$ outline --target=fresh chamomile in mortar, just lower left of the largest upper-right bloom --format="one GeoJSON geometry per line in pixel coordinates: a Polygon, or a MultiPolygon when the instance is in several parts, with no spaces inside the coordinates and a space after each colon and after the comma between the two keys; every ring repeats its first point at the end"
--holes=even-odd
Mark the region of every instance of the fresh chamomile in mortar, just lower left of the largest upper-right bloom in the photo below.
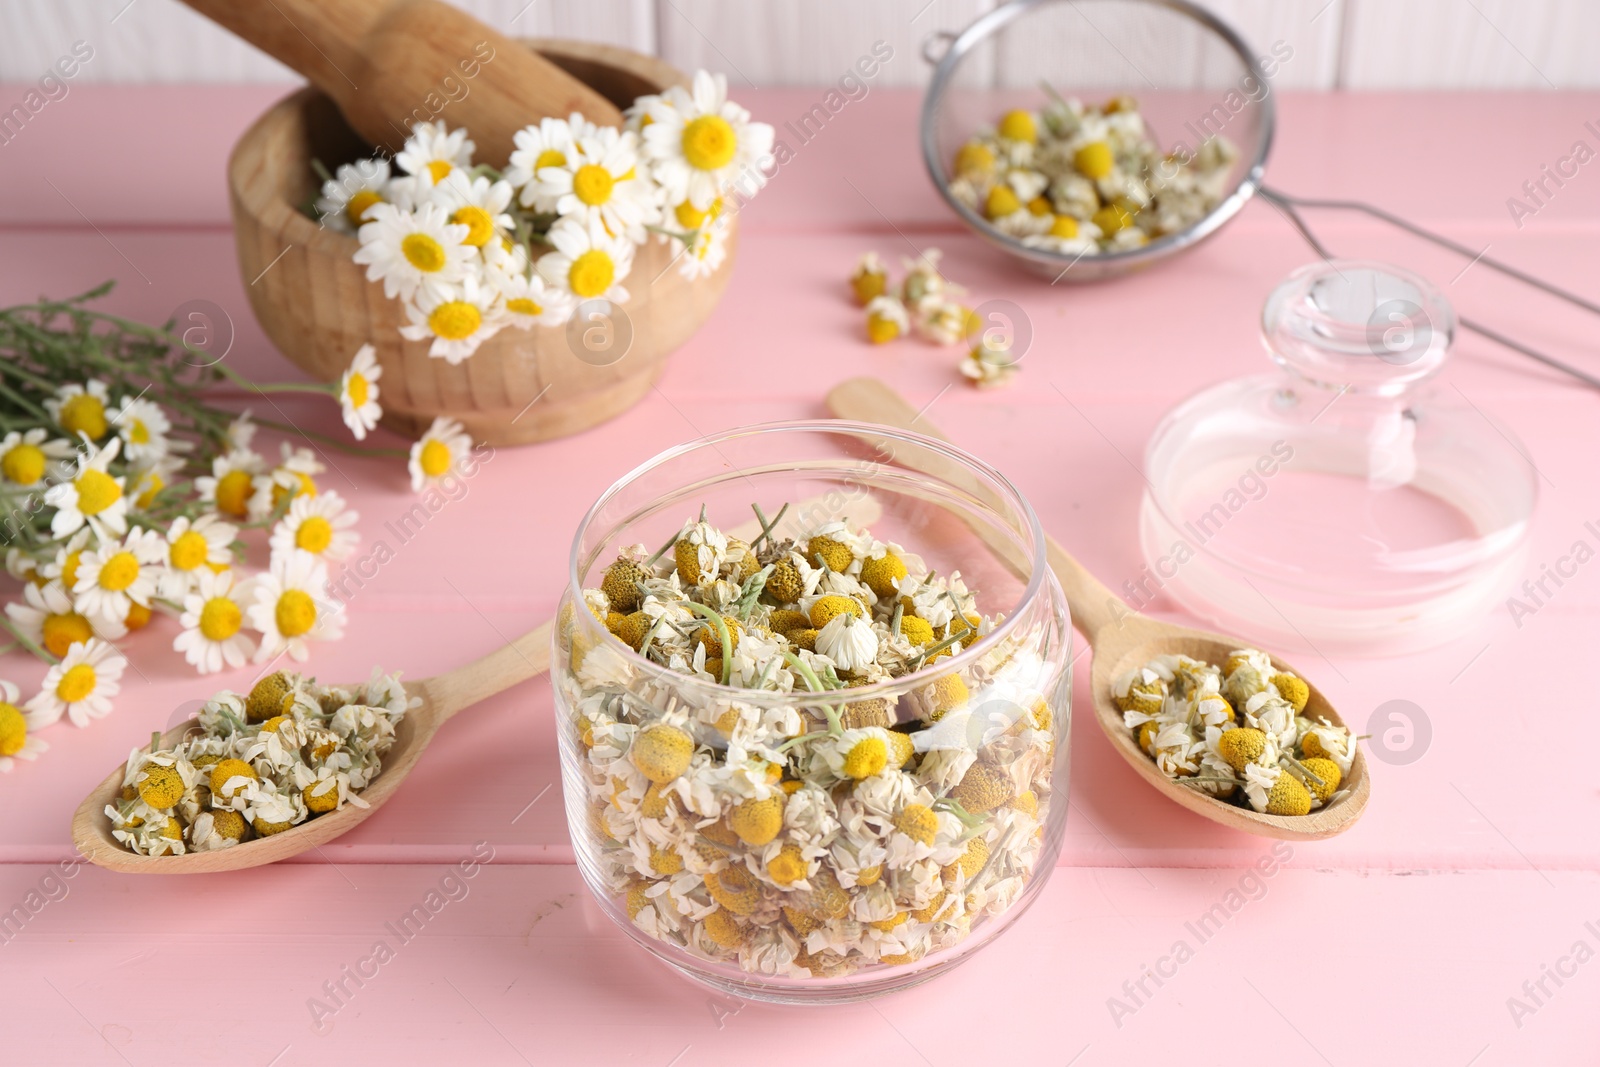
{"type": "Polygon", "coordinates": [[[541,168],[536,195],[562,218],[600,222],[610,234],[640,242],[658,211],[653,187],[637,173],[638,136],[605,126],[581,138],[565,163],[541,168]]]}

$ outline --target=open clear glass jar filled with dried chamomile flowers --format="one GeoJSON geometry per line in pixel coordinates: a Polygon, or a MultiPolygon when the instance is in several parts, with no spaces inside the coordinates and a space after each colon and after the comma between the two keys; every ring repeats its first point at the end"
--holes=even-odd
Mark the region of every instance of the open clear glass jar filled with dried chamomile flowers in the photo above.
{"type": "Polygon", "coordinates": [[[579,870],[600,907],[678,971],[771,1001],[886,993],[970,957],[1050,877],[1067,819],[1072,629],[1032,507],[973,456],[840,421],[674,448],[589,510],[558,617],[550,673],[579,870]],[[757,526],[739,530],[752,504],[766,517],[787,504],[773,539],[803,542],[846,518],[938,574],[958,571],[992,629],[898,678],[824,691],[798,670],[790,691],[717,685],[608,630],[586,590],[621,550],[672,545],[701,509],[754,537],[757,526]],[[662,725],[693,744],[667,782],[672,768],[635,750],[662,725]],[[862,776],[840,757],[866,734],[891,755],[862,776]],[[781,825],[734,811],[762,805],[781,825]],[[805,864],[798,880],[773,865],[786,851],[805,864]]]}

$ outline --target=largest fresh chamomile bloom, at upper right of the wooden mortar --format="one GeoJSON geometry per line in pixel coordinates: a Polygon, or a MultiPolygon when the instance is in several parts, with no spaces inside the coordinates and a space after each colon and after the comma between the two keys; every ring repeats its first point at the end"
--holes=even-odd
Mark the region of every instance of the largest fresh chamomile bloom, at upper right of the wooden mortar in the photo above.
{"type": "Polygon", "coordinates": [[[760,162],[773,150],[773,128],[728,99],[723,75],[698,70],[691,90],[667,90],[646,114],[645,155],[667,203],[690,200],[704,211],[734,182],[766,182],[760,162]]]}

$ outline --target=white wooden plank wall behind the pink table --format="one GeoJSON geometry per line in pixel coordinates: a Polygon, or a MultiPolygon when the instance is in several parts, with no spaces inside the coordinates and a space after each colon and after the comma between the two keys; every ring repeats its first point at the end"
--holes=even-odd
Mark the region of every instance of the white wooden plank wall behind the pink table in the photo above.
{"type": "MultiPolygon", "coordinates": [[[[259,3],[264,0],[240,0],[259,3]]],[[[734,85],[834,82],[883,38],[880,85],[926,77],[917,48],[995,0],[454,0],[514,35],[586,37],[710,67],[734,85]]],[[[1595,88],[1600,0],[1210,0],[1266,51],[1282,88],[1595,88]]],[[[5,0],[0,82],[32,82],[75,40],[82,80],[288,82],[293,74],[176,0],[5,0]]]]}

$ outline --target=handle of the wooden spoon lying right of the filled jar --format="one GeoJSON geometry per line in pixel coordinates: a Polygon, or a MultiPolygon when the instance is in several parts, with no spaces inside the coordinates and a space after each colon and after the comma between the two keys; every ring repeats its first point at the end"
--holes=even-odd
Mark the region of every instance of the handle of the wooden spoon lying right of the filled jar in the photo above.
{"type": "MultiPolygon", "coordinates": [[[[846,382],[840,382],[827,394],[827,406],[842,419],[878,422],[880,426],[910,430],[941,442],[950,440],[926,416],[912,408],[904,397],[877,378],[851,378],[846,382]]],[[[971,491],[979,499],[992,496],[986,486],[936,453],[907,453],[902,448],[896,450],[894,462],[938,475],[952,485],[971,491]]],[[[1072,608],[1072,622],[1083,632],[1090,645],[1094,643],[1094,635],[1102,627],[1136,614],[1112,590],[1102,585],[1098,577],[1083,569],[1083,565],[1072,558],[1050,534],[1045,534],[1045,555],[1050,560],[1050,569],[1056,573],[1056,581],[1061,582],[1061,590],[1067,595],[1067,605],[1072,608]]]]}

